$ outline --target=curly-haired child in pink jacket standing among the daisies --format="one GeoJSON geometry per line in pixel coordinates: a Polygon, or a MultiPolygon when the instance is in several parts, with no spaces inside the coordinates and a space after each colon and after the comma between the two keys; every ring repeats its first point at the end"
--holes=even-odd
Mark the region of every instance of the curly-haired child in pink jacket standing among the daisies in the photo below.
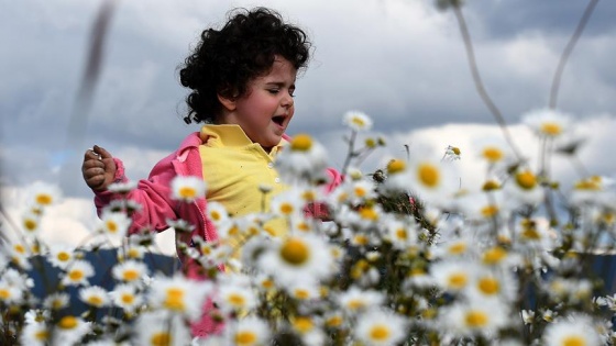
{"type": "MultiPolygon", "coordinates": [[[[216,241],[217,231],[205,213],[207,201],[222,203],[232,215],[244,215],[261,211],[260,185],[274,187],[268,197],[285,189],[273,160],[286,143],[284,133],[295,111],[295,80],[307,65],[309,49],[304,31],[264,8],[238,10],[222,29],[201,33],[179,76],[182,85],[191,89],[184,120],[205,125],[157,163],[148,179],[140,180],[129,194],[142,205],[132,215],[130,233],[144,227],[164,231],[169,227],[167,220],[182,219],[195,225],[193,234],[176,235],[183,243],[189,244],[195,235],[216,241]],[[172,200],[170,181],[176,176],[205,179],[206,199],[172,200]]],[[[86,152],[81,170],[99,212],[114,199],[107,187],[127,180],[122,161],[96,145],[86,152]]],[[[333,187],[340,175],[329,172],[333,187]]],[[[188,276],[199,277],[196,264],[183,265],[188,276]]],[[[208,333],[207,327],[200,328],[194,332],[208,333]]]]}

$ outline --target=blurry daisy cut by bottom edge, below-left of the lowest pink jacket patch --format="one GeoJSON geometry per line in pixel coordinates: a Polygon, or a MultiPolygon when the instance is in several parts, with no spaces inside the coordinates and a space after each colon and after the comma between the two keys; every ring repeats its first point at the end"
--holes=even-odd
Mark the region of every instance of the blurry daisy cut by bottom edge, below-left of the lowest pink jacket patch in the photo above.
{"type": "Polygon", "coordinates": [[[190,331],[180,315],[169,311],[146,312],[136,320],[134,345],[190,345],[190,331]]]}

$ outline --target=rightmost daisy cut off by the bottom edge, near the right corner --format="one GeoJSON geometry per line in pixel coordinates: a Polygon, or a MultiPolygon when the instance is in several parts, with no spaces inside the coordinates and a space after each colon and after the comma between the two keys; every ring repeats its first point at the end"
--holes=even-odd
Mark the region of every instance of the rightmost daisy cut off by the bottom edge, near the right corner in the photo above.
{"type": "Polygon", "coordinates": [[[592,320],[582,314],[573,315],[571,319],[559,319],[549,324],[543,333],[543,342],[546,346],[601,345],[592,320]]]}

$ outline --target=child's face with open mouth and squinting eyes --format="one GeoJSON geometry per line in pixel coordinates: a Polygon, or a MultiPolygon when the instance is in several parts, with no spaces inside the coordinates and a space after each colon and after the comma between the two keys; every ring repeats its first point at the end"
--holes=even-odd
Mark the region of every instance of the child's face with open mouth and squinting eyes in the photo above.
{"type": "Polygon", "coordinates": [[[297,70],[276,56],[272,70],[249,82],[245,96],[227,101],[222,122],[238,124],[252,142],[270,150],[280,142],[295,112],[293,92],[297,70]]]}

